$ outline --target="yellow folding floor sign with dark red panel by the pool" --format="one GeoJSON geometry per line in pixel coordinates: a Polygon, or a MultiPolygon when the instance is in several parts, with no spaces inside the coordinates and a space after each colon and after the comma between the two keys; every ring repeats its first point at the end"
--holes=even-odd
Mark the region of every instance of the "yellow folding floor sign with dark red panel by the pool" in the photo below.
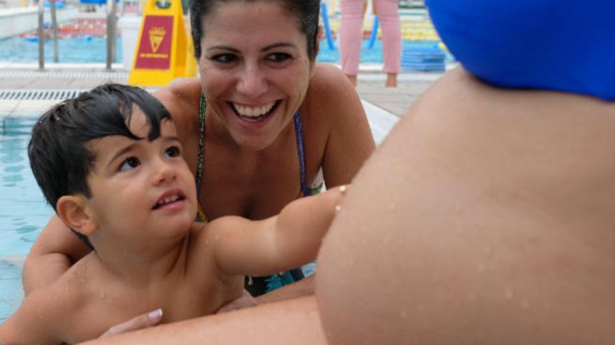
{"type": "Polygon", "coordinates": [[[164,86],[196,75],[192,38],[186,33],[181,0],[147,0],[128,84],[164,86]]]}

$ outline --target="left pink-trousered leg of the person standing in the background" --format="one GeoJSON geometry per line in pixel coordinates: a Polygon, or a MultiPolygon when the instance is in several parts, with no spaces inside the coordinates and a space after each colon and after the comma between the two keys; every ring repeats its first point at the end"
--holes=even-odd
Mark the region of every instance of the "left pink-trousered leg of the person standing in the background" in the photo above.
{"type": "Polygon", "coordinates": [[[340,23],[340,56],[342,72],[356,86],[363,38],[363,0],[342,0],[340,3],[342,20],[340,23]]]}

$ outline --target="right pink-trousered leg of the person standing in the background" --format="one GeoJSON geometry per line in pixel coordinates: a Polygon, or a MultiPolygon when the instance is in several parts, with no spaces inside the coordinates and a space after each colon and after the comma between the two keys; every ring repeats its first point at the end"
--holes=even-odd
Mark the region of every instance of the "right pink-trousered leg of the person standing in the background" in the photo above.
{"type": "Polygon", "coordinates": [[[401,23],[397,0],[374,0],[378,20],[382,26],[382,56],[385,86],[397,86],[397,74],[401,68],[401,23]]]}

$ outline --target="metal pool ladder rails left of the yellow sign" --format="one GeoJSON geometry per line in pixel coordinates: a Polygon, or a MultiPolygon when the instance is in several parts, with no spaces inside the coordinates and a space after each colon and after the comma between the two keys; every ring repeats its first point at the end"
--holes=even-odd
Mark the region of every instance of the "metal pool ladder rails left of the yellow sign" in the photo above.
{"type": "MultiPolygon", "coordinates": [[[[53,27],[53,61],[58,62],[58,41],[57,41],[57,16],[55,10],[55,0],[49,0],[51,10],[51,25],[53,27]]],[[[115,60],[115,44],[117,40],[117,3],[115,0],[107,0],[107,70],[111,70],[111,63],[115,60]],[[110,9],[110,10],[109,10],[110,9]]],[[[38,69],[45,69],[45,1],[38,1],[38,69]]]]}

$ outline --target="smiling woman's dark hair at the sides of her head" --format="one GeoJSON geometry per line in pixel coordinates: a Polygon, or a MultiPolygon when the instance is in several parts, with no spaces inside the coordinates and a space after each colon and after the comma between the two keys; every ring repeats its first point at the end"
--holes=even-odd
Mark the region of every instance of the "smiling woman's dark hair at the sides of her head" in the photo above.
{"type": "MultiPolygon", "coordinates": [[[[281,6],[292,13],[301,32],[307,38],[307,56],[312,61],[316,59],[318,40],[318,16],[320,13],[320,0],[190,0],[190,24],[192,26],[192,42],[194,43],[194,56],[201,59],[201,38],[203,38],[203,21],[209,13],[222,3],[231,1],[277,1],[281,6]]],[[[274,18],[272,18],[273,20],[274,18]]]]}

